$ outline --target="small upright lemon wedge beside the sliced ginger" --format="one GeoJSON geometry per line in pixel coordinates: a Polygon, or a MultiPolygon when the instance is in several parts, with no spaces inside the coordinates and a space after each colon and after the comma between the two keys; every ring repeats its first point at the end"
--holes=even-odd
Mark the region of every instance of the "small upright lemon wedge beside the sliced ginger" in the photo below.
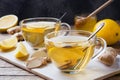
{"type": "Polygon", "coordinates": [[[15,57],[21,60],[23,59],[26,60],[28,56],[29,54],[27,52],[26,47],[24,46],[22,42],[20,42],[17,46],[15,57]]]}

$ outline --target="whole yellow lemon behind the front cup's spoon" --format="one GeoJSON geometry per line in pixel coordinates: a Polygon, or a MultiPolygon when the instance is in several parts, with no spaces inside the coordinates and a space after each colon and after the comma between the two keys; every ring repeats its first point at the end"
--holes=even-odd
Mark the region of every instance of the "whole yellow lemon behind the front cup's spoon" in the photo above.
{"type": "Polygon", "coordinates": [[[107,45],[115,44],[120,40],[120,26],[112,19],[100,20],[94,26],[93,31],[95,31],[101,23],[105,23],[103,28],[97,33],[98,37],[102,37],[106,40],[107,45]]]}

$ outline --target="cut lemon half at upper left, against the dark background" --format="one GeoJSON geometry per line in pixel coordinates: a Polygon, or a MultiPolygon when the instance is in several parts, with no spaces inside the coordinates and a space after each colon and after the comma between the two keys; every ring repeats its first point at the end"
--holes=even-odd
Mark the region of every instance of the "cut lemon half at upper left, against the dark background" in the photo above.
{"type": "Polygon", "coordinates": [[[0,32],[5,32],[8,28],[16,26],[18,17],[16,15],[5,15],[0,18],[0,32]]]}

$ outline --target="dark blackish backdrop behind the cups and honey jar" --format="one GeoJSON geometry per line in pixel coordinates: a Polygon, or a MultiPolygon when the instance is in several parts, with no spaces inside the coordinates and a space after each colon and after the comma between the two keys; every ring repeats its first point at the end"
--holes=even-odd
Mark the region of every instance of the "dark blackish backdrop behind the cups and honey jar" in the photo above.
{"type": "MultiPolygon", "coordinates": [[[[63,22],[74,24],[76,15],[91,13],[108,0],[0,0],[0,17],[15,14],[19,21],[32,17],[60,18],[65,12],[63,22]]],[[[97,14],[98,20],[120,19],[120,0],[114,0],[109,6],[97,14]]]]}

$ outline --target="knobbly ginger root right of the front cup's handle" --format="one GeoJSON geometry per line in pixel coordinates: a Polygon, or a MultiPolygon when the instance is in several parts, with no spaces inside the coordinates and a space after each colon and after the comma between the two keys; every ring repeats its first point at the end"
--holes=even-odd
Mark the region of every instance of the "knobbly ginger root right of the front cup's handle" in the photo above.
{"type": "Polygon", "coordinates": [[[106,51],[103,54],[101,54],[98,57],[98,59],[103,64],[105,64],[107,66],[111,66],[114,64],[114,62],[116,60],[116,56],[117,56],[116,50],[112,47],[107,47],[106,51]]]}

